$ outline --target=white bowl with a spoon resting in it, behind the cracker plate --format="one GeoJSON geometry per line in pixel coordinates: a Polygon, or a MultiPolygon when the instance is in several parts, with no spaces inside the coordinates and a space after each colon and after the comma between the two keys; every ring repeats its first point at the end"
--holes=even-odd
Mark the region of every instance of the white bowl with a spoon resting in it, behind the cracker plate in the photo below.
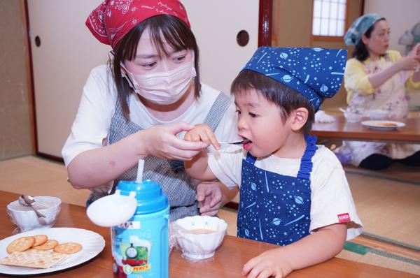
{"type": "Polygon", "coordinates": [[[20,228],[20,232],[27,232],[36,228],[51,228],[59,214],[62,201],[53,196],[35,196],[34,207],[45,215],[38,218],[31,207],[22,206],[18,200],[7,205],[7,213],[13,224],[20,228]]]}

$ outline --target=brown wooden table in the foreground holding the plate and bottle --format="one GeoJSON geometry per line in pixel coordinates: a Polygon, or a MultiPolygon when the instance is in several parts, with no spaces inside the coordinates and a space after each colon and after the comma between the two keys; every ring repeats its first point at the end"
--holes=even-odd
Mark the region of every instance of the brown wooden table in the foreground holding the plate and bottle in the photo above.
{"type": "MultiPolygon", "coordinates": [[[[18,198],[18,194],[0,191],[0,239],[9,237],[13,231],[13,224],[6,213],[6,205],[18,198]]],[[[61,212],[57,218],[55,227],[74,227],[94,231],[105,239],[105,249],[92,260],[77,265],[67,270],[61,270],[43,276],[48,277],[113,277],[111,240],[109,228],[95,226],[87,219],[85,207],[78,205],[62,204],[61,212]]],[[[190,263],[182,258],[179,251],[172,251],[169,258],[170,277],[188,278],[219,278],[219,277],[241,277],[241,268],[246,261],[257,256],[262,251],[275,248],[275,245],[242,238],[225,236],[221,247],[217,249],[216,255],[198,263],[190,263]]],[[[400,272],[387,268],[380,268],[365,263],[357,263],[342,258],[332,258],[325,263],[311,266],[292,272],[288,277],[419,277],[406,272],[400,272]]]]}

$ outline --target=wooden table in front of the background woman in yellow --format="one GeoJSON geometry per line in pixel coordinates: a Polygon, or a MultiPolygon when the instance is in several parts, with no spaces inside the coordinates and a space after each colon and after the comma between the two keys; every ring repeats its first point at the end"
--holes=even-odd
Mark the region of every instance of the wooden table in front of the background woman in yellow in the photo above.
{"type": "MultiPolygon", "coordinates": [[[[328,113],[330,114],[330,113],[328,113]]],[[[420,143],[420,118],[398,120],[404,122],[405,126],[397,130],[378,130],[370,129],[360,123],[347,122],[342,113],[331,115],[335,118],[332,123],[314,123],[311,134],[322,139],[345,139],[359,141],[381,141],[381,142],[401,142],[401,143],[420,143]]],[[[363,119],[363,120],[368,120],[363,119]]]]}

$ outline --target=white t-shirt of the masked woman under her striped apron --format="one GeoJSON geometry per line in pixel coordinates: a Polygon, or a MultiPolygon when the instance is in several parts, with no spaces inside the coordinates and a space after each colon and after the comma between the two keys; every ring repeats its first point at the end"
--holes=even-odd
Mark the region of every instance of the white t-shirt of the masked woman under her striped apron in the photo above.
{"type": "MultiPolygon", "coordinates": [[[[153,117],[139,98],[130,98],[130,119],[144,129],[160,124],[185,121],[190,124],[202,123],[220,92],[202,84],[200,98],[180,117],[171,121],[161,121],[153,117]]],[[[93,68],[83,87],[83,94],[71,133],[62,149],[66,166],[81,152],[102,147],[107,138],[111,119],[116,112],[117,94],[109,71],[109,66],[93,68]]],[[[237,140],[237,116],[235,105],[231,103],[215,130],[216,138],[221,141],[237,140]]],[[[178,135],[183,138],[183,133],[178,135]]],[[[209,148],[210,152],[214,149],[209,148]]],[[[109,187],[109,184],[106,185],[109,187]]]]}

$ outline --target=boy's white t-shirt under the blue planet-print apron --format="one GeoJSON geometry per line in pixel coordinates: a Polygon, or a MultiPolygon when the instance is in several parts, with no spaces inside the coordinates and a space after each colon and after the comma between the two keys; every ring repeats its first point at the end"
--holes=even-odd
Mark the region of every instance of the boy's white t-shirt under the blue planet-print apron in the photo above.
{"type": "MultiPolygon", "coordinates": [[[[362,233],[363,224],[358,218],[344,170],[330,149],[317,145],[312,157],[311,224],[309,231],[339,223],[339,217],[348,214],[347,240],[362,233]],[[342,214],[341,216],[339,216],[342,214]]],[[[246,150],[239,146],[227,147],[209,154],[209,167],[214,175],[228,187],[241,184],[242,159],[246,150]]],[[[296,177],[300,159],[283,159],[270,155],[255,161],[255,166],[281,175],[296,177]]]]}

